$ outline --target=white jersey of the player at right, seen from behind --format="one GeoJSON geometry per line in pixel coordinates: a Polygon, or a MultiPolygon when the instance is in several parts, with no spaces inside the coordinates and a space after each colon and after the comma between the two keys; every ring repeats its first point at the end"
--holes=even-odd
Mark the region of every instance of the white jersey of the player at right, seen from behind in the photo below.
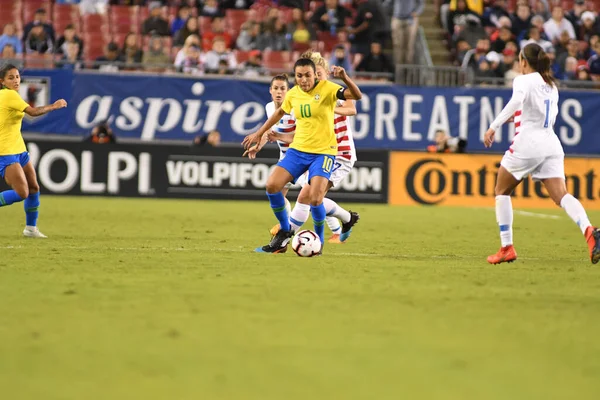
{"type": "Polygon", "coordinates": [[[558,115],[558,89],[548,85],[535,72],[521,75],[513,82],[513,95],[490,125],[498,131],[514,116],[515,138],[509,151],[520,158],[549,157],[564,154],[554,132],[558,115]]]}

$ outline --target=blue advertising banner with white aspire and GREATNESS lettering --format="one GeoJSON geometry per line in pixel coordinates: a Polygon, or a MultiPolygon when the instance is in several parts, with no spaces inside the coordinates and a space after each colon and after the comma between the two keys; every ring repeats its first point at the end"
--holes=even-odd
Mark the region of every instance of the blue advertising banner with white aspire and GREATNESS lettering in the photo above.
{"type": "MultiPolygon", "coordinates": [[[[496,88],[365,84],[361,89],[353,120],[357,147],[394,150],[424,150],[435,132],[444,130],[467,139],[467,151],[482,151],[485,131],[511,95],[496,88]]],[[[54,92],[51,97],[57,98],[54,92]]],[[[76,72],[70,114],[49,115],[26,130],[87,135],[108,119],[117,137],[191,141],[218,129],[224,142],[240,142],[266,120],[269,101],[266,82],[76,72]]],[[[567,153],[600,153],[599,110],[597,92],[561,92],[554,129],[567,153]]],[[[513,136],[514,124],[506,124],[492,150],[505,151],[513,136]]]]}

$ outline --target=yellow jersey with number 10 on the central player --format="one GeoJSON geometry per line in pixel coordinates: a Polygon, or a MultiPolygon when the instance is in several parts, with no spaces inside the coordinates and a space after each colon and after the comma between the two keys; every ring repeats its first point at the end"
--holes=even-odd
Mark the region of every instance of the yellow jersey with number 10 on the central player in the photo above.
{"type": "Polygon", "coordinates": [[[286,93],[281,108],[286,114],[293,110],[296,117],[291,149],[311,154],[337,154],[333,109],[340,89],[342,87],[333,82],[320,81],[310,92],[296,85],[286,93]]]}

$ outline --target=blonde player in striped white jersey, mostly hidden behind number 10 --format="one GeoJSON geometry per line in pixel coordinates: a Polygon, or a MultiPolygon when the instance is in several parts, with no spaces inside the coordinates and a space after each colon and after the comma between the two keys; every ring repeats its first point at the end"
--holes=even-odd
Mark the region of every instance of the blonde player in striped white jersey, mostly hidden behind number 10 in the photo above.
{"type": "MultiPolygon", "coordinates": [[[[301,58],[310,58],[317,67],[317,78],[319,80],[326,80],[329,77],[329,65],[327,61],[321,56],[320,53],[308,51],[301,55],[301,58]]],[[[352,100],[338,100],[338,104],[335,108],[334,116],[334,129],[337,136],[338,142],[338,153],[335,158],[333,171],[329,178],[329,184],[327,190],[332,187],[336,187],[340,182],[350,173],[354,163],[356,162],[356,149],[354,147],[354,140],[352,138],[352,129],[348,125],[348,118],[356,115],[356,106],[352,100]]],[[[291,140],[293,137],[282,137],[275,132],[269,134],[269,140],[291,140]]],[[[298,195],[296,204],[290,214],[290,224],[292,230],[298,231],[298,229],[306,222],[310,213],[310,200],[309,200],[309,187],[308,182],[300,182],[302,184],[302,190],[298,195]]],[[[345,242],[350,233],[352,227],[358,222],[360,216],[356,212],[346,211],[340,207],[335,201],[325,198],[323,199],[323,205],[327,213],[327,225],[333,233],[333,236],[329,239],[330,243],[343,243],[345,242]],[[342,225],[340,226],[340,221],[342,225]]],[[[276,233],[277,226],[271,230],[271,234],[276,233]]]]}

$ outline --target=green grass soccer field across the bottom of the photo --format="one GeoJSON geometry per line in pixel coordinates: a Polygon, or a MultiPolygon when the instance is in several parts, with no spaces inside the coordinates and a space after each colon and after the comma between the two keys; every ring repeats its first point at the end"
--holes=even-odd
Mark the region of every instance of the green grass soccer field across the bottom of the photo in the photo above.
{"type": "MultiPolygon", "coordinates": [[[[355,205],[323,257],[254,254],[267,202],[42,198],[0,209],[3,399],[597,399],[600,265],[577,226],[355,205]]],[[[600,221],[600,213],[590,213],[600,221]]]]}

